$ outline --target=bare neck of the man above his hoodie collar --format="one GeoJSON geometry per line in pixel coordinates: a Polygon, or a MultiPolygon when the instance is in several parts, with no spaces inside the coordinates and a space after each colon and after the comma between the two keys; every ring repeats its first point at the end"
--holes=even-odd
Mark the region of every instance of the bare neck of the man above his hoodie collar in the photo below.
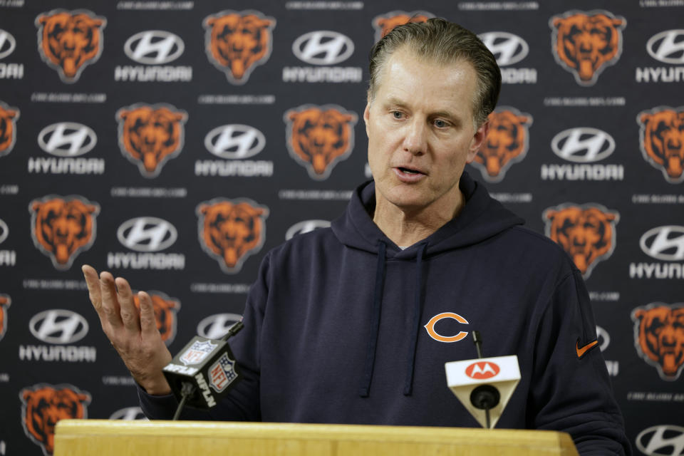
{"type": "Polygon", "coordinates": [[[400,208],[377,193],[375,201],[373,222],[385,236],[401,247],[408,247],[429,237],[456,217],[465,204],[460,190],[454,201],[435,202],[418,210],[400,208]]]}

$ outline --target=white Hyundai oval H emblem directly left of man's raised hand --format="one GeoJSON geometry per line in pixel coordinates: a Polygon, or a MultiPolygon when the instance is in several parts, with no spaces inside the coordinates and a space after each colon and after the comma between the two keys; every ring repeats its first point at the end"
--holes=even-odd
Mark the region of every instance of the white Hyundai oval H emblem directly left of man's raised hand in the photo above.
{"type": "Polygon", "coordinates": [[[28,321],[31,334],[46,343],[74,343],[88,333],[88,321],[76,312],[51,309],[28,321]]]}

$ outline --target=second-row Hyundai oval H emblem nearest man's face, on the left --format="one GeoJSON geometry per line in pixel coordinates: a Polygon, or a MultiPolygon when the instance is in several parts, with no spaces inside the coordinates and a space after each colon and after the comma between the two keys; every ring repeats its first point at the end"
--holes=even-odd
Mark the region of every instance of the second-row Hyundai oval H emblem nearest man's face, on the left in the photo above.
{"type": "Polygon", "coordinates": [[[222,125],[207,133],[204,147],[217,157],[241,159],[261,152],[266,147],[266,137],[249,125],[222,125]]]}

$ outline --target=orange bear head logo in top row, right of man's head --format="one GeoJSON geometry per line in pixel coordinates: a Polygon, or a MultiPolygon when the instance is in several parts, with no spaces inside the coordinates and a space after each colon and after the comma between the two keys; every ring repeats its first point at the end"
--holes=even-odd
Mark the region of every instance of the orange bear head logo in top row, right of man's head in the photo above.
{"type": "Polygon", "coordinates": [[[598,75],[622,53],[623,17],[608,11],[568,11],[549,20],[551,50],[581,86],[593,86],[598,75]]]}

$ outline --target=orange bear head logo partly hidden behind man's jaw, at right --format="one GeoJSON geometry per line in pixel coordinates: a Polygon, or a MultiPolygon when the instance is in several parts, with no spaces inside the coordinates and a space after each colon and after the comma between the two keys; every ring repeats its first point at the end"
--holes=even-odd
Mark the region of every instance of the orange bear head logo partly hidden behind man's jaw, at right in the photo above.
{"type": "Polygon", "coordinates": [[[532,115],[502,106],[489,114],[489,134],[472,165],[488,182],[501,182],[511,165],[527,155],[532,115]]]}

